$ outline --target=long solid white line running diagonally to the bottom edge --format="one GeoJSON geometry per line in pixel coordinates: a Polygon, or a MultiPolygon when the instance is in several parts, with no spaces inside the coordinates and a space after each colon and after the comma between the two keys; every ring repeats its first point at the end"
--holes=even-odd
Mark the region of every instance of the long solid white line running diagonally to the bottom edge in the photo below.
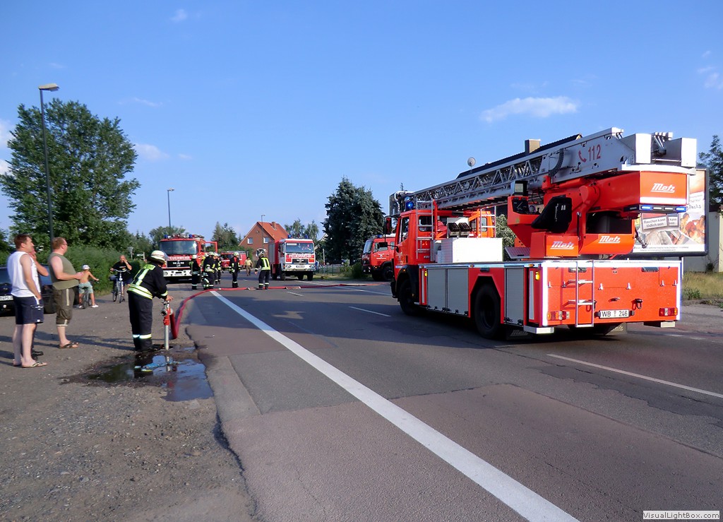
{"type": "Polygon", "coordinates": [[[330,380],[341,386],[348,393],[358,398],[359,401],[366,404],[377,414],[387,419],[404,433],[412,437],[414,440],[422,444],[432,453],[435,453],[442,460],[446,461],[461,473],[469,477],[469,479],[479,484],[487,492],[491,493],[517,513],[530,521],[576,521],[565,511],[556,505],[537,495],[528,487],[520,484],[512,477],[505,475],[499,469],[495,468],[487,461],[482,460],[471,451],[466,450],[453,440],[448,439],[445,435],[437,432],[436,429],[430,427],[415,416],[408,414],[399,406],[387,401],[375,391],[370,390],[341,370],[333,367],[328,362],[320,359],[320,357],[312,354],[306,348],[296,341],[292,341],[285,335],[277,332],[262,320],[257,319],[249,314],[246,310],[236,306],[225,297],[212,291],[219,300],[233,309],[237,314],[251,322],[256,328],[281,343],[289,351],[291,351],[300,359],[307,362],[330,380]]]}

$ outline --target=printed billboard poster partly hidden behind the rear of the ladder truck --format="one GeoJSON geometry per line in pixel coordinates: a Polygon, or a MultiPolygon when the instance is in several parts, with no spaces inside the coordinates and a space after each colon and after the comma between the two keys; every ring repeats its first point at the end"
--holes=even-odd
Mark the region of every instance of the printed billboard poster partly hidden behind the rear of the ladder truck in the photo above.
{"type": "Polygon", "coordinates": [[[636,220],[633,252],[640,254],[699,255],[706,252],[706,171],[688,178],[688,210],[678,214],[643,213],[636,220]],[[641,241],[642,240],[642,241],[641,241]],[[643,247],[643,244],[646,246],[643,247]]]}

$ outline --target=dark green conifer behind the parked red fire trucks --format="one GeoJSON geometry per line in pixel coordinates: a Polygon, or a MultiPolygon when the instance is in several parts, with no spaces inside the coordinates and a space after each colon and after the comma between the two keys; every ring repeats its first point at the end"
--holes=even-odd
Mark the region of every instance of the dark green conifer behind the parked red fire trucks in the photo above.
{"type": "Polygon", "coordinates": [[[359,260],[364,241],[381,234],[384,214],[372,192],[344,177],[329,196],[324,220],[326,255],[332,260],[359,260]]]}

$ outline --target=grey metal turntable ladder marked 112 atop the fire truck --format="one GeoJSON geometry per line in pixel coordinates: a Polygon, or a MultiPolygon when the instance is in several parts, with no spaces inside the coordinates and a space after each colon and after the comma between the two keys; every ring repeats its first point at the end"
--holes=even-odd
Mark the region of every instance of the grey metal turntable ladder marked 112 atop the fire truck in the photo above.
{"type": "Polygon", "coordinates": [[[515,184],[526,184],[532,191],[540,189],[546,176],[559,184],[643,170],[693,174],[696,167],[696,140],[674,140],[670,132],[624,137],[622,129],[612,127],[543,147],[537,146],[536,140],[529,143],[529,152],[464,171],[447,183],[416,192],[395,192],[389,198],[389,215],[398,216],[411,207],[429,207],[433,201],[439,208],[458,210],[493,205],[517,193],[515,184]]]}

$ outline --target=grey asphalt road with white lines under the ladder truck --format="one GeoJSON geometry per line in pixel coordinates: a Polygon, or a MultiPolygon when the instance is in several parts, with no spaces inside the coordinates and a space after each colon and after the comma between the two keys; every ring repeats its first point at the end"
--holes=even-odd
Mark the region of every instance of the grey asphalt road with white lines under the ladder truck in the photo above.
{"type": "MultiPolygon", "coordinates": [[[[272,282],[191,301],[264,521],[641,521],[721,510],[717,307],[675,329],[487,341],[388,286],[272,282]]],[[[241,285],[253,286],[251,278],[241,285]]]]}

